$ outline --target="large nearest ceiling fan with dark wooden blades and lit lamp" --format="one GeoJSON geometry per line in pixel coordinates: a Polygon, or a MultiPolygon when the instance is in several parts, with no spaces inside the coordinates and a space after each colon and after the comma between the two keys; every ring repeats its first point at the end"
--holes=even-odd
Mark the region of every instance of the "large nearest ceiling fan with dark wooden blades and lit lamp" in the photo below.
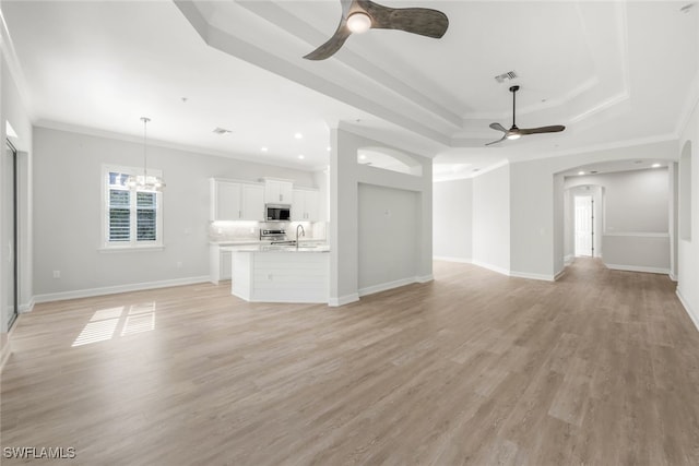
{"type": "Polygon", "coordinates": [[[445,13],[427,8],[389,8],[370,0],[340,0],[342,17],[335,34],[304,58],[324,60],[332,57],[352,33],[368,29],[400,29],[420,36],[440,38],[449,27],[445,13]]]}

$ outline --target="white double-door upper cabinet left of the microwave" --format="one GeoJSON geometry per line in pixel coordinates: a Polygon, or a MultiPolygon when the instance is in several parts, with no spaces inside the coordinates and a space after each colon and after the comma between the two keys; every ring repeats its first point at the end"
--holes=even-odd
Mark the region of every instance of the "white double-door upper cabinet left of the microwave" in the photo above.
{"type": "Polygon", "coordinates": [[[212,222],[264,219],[264,187],[211,179],[212,222]]]}

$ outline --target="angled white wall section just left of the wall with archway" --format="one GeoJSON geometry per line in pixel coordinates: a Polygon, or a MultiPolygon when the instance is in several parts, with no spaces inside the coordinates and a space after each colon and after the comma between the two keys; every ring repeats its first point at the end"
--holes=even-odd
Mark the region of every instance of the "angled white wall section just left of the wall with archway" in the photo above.
{"type": "Polygon", "coordinates": [[[473,178],[473,263],[510,272],[510,166],[473,178]]]}

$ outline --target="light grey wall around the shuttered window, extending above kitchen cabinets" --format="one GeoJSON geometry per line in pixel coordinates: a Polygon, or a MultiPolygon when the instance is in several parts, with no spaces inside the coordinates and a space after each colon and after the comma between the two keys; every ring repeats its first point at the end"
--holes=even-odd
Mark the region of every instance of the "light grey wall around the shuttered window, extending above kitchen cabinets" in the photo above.
{"type": "Polygon", "coordinates": [[[161,168],[164,250],[103,252],[102,166],[142,166],[143,143],[46,128],[34,130],[34,292],[37,301],[134,286],[205,280],[209,275],[209,178],[293,179],[311,172],[194,154],[149,143],[161,168]],[[178,267],[181,263],[181,267],[178,267]],[[52,271],[61,277],[54,278],[52,271]]]}

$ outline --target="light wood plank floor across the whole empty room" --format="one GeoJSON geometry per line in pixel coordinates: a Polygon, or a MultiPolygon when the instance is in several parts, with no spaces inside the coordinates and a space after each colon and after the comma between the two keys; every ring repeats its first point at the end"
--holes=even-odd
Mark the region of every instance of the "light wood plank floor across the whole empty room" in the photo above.
{"type": "Polygon", "coordinates": [[[2,446],[84,465],[699,464],[699,333],[666,276],[435,275],[342,308],[228,284],[37,306],[2,374],[2,446]]]}

